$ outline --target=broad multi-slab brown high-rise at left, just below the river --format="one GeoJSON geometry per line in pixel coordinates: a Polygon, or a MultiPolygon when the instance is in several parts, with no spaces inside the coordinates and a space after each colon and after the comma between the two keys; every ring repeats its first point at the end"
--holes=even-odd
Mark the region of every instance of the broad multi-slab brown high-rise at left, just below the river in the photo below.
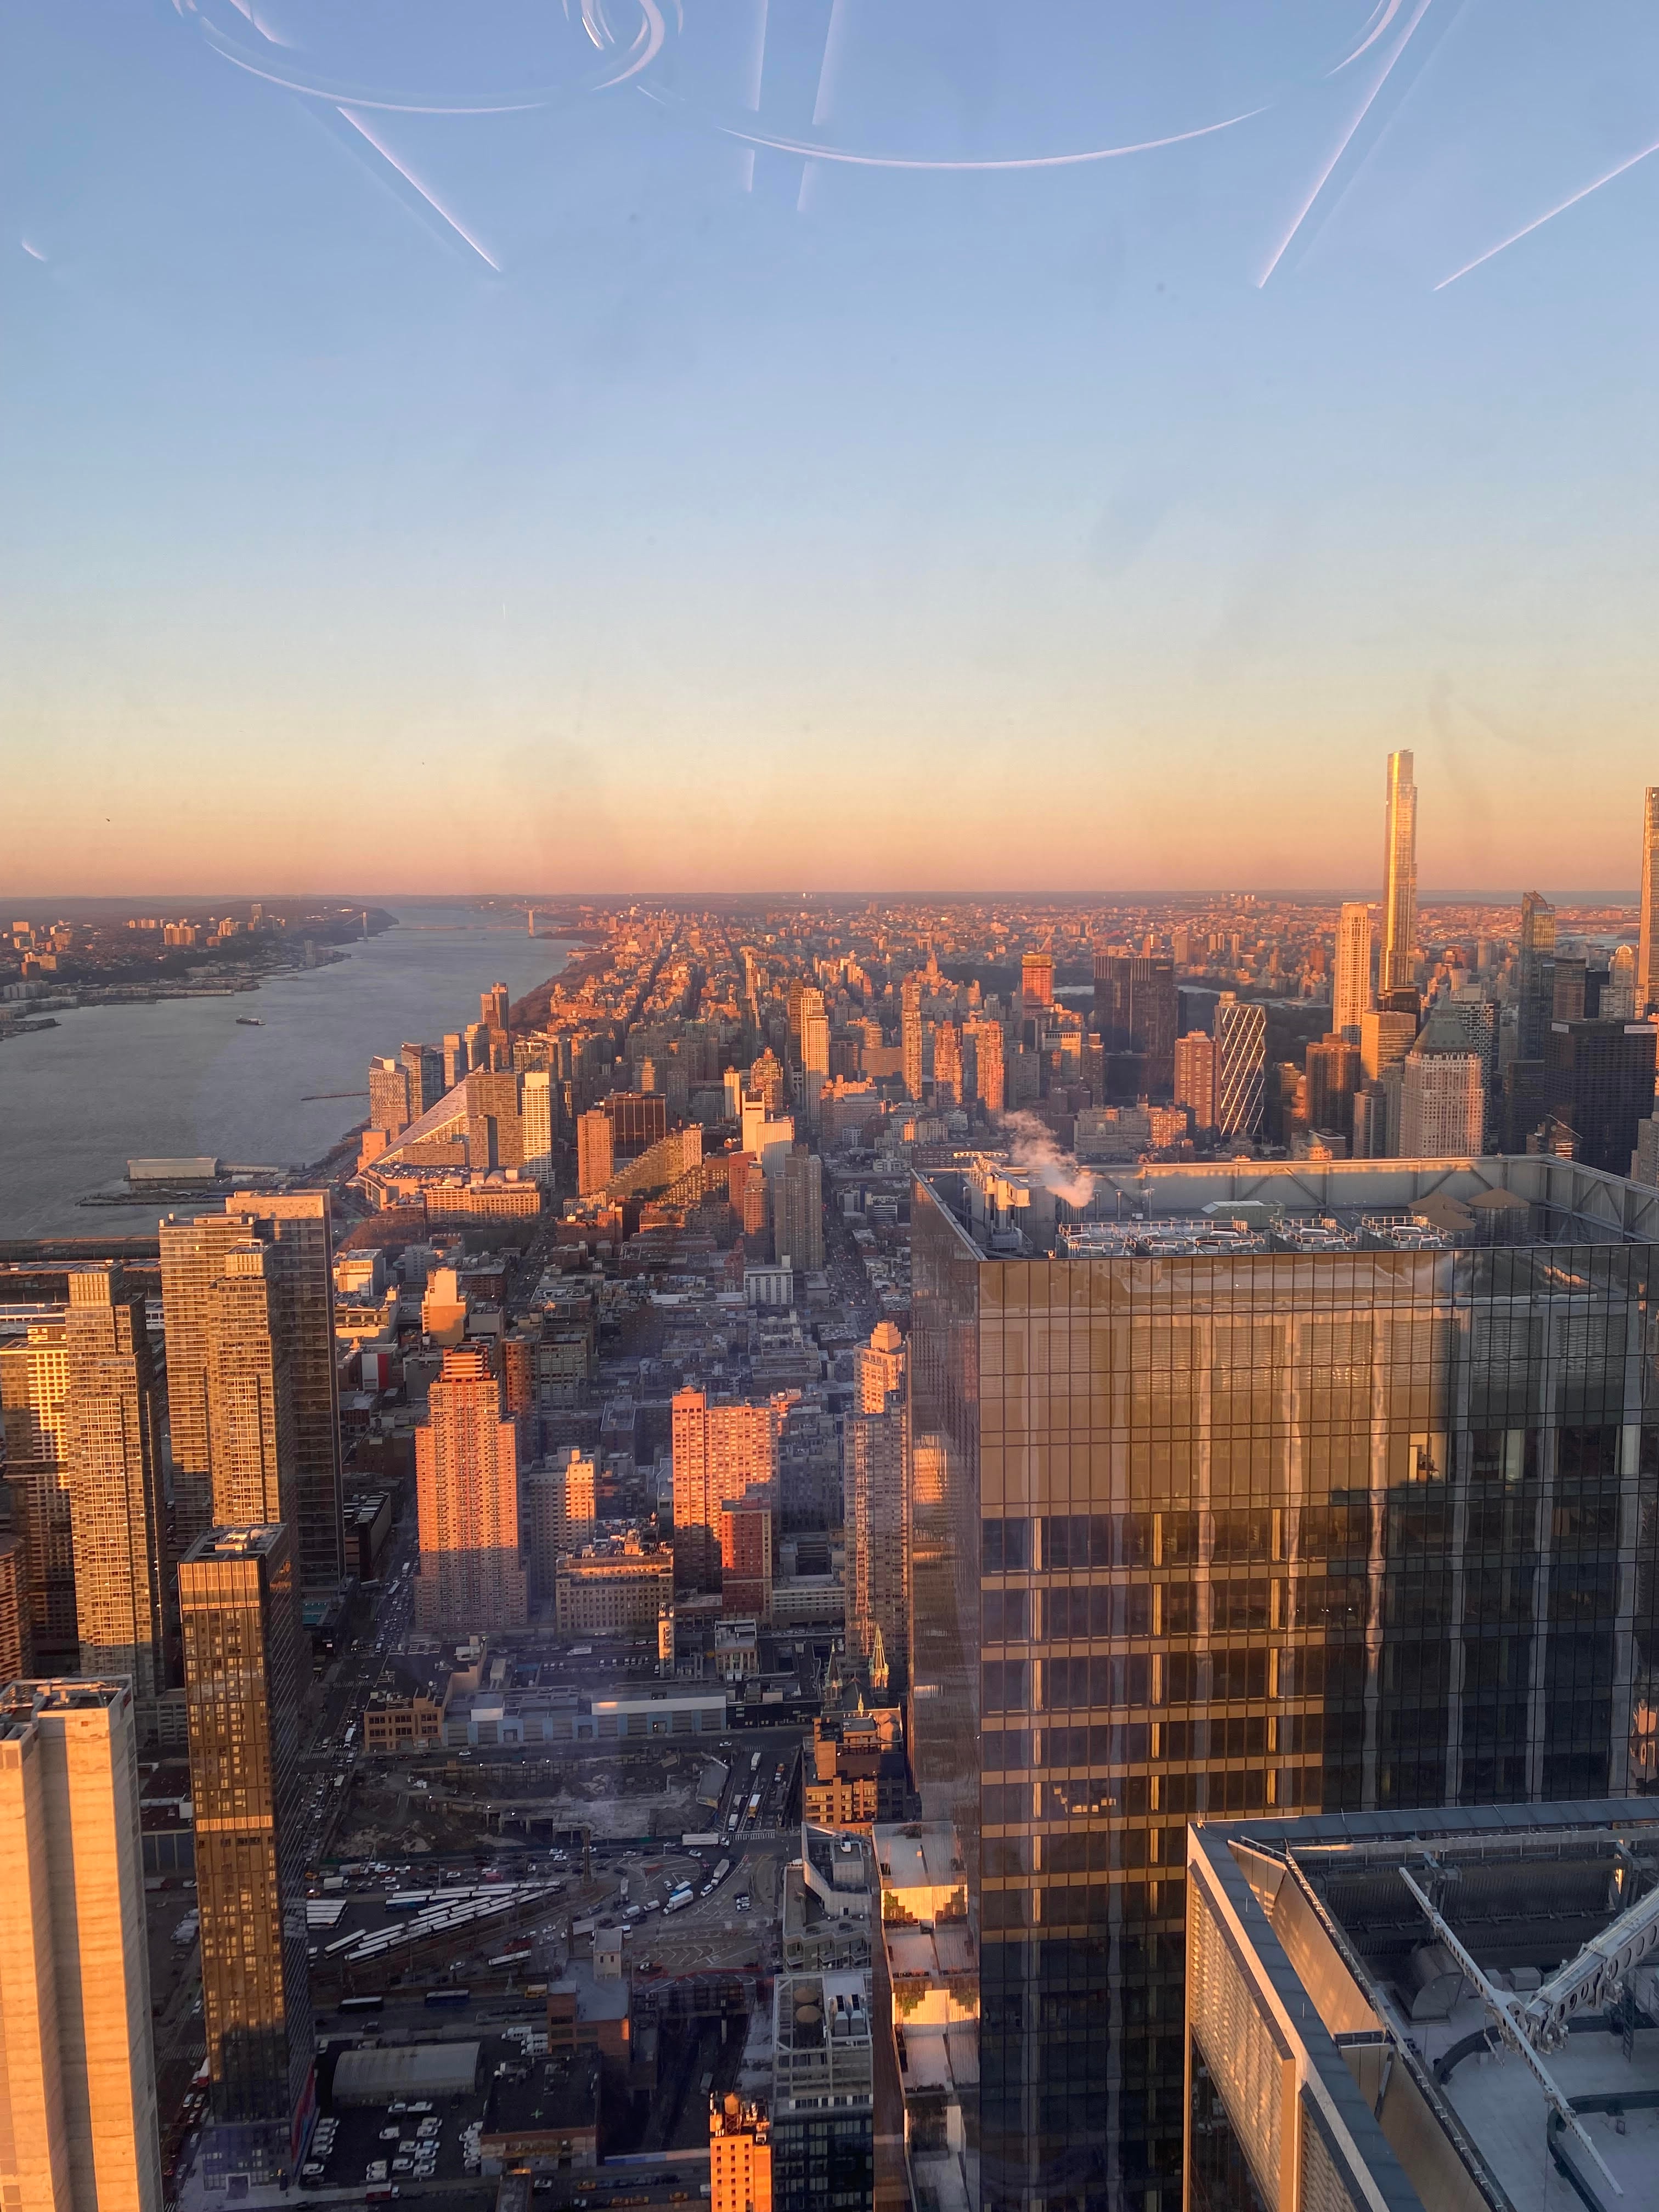
{"type": "Polygon", "coordinates": [[[161,1223],[175,1526],[290,1528],[303,1588],[345,1571],[332,1221],[325,1190],[239,1190],[161,1223]]]}

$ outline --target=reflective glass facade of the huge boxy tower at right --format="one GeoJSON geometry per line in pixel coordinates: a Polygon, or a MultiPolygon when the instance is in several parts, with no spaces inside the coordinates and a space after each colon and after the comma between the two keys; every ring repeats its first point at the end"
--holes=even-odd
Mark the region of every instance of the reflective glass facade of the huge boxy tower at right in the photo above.
{"type": "Polygon", "coordinates": [[[936,1181],[914,1756],[984,2201],[1172,2212],[1192,1816],[1655,1785],[1655,1248],[987,1259],[936,1181]]]}

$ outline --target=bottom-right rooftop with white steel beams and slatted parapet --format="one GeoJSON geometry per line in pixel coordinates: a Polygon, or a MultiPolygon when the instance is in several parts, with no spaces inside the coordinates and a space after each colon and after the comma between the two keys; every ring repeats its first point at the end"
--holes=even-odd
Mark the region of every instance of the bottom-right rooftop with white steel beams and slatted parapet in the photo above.
{"type": "Polygon", "coordinates": [[[1270,2201],[1261,2028],[1354,2201],[1659,2212],[1657,1801],[1217,1820],[1188,1867],[1188,2017],[1270,2201]]]}

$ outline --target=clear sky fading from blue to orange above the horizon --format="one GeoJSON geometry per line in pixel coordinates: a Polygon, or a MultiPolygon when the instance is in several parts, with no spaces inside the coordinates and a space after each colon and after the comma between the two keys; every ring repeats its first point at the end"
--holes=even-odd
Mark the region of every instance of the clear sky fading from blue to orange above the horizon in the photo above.
{"type": "Polygon", "coordinates": [[[1628,889],[1639,0],[9,0],[0,891],[1628,889]]]}

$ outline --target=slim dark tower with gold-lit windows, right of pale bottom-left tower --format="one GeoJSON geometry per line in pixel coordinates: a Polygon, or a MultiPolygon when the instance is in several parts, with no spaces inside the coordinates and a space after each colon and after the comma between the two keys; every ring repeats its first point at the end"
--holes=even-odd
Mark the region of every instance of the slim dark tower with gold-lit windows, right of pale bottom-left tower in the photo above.
{"type": "Polygon", "coordinates": [[[219,2188],[292,2177],[314,2115],[296,1579],[281,1524],[210,1528],[179,1562],[219,2188]]]}

